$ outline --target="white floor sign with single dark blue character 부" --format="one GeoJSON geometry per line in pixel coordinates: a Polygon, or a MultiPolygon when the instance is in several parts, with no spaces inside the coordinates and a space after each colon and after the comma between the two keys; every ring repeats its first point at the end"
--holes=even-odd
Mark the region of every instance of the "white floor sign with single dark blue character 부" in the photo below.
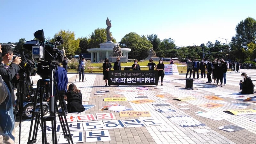
{"type": "Polygon", "coordinates": [[[110,141],[108,130],[86,131],[85,142],[110,141]]]}

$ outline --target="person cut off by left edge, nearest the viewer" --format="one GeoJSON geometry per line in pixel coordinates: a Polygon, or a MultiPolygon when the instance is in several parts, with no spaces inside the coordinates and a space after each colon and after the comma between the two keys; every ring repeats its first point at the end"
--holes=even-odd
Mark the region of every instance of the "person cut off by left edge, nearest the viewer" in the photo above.
{"type": "MultiPolygon", "coordinates": [[[[0,61],[2,61],[2,50],[0,44],[0,61]]],[[[14,115],[12,109],[11,93],[2,80],[0,74],[0,143],[14,144],[14,115]]]]}

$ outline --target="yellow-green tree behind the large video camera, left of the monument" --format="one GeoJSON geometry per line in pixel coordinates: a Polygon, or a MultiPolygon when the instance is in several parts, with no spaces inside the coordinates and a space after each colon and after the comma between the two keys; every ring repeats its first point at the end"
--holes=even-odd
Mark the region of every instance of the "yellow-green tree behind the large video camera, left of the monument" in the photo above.
{"type": "Polygon", "coordinates": [[[61,36],[64,43],[58,46],[59,49],[61,47],[64,47],[66,51],[67,56],[73,56],[75,54],[79,54],[79,41],[80,39],[75,38],[75,32],[72,32],[70,30],[60,30],[58,33],[56,33],[51,40],[51,42],[54,42],[57,36],[61,36]]]}

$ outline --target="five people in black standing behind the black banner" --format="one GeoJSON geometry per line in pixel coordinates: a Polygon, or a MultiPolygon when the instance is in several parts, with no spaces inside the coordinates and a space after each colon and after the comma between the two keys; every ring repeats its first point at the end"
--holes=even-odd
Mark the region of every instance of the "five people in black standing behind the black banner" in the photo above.
{"type": "MultiPolygon", "coordinates": [[[[111,70],[112,65],[109,62],[108,58],[105,58],[104,63],[102,65],[103,68],[103,79],[105,80],[106,85],[105,86],[110,86],[108,85],[108,72],[111,70]]],[[[159,78],[161,76],[161,85],[163,85],[163,79],[164,79],[164,63],[163,60],[160,59],[159,63],[156,65],[156,63],[153,62],[153,59],[149,59],[148,63],[148,70],[157,70],[158,71],[158,78],[157,78],[157,83],[159,81],[159,78]]],[[[114,70],[122,70],[121,69],[121,62],[120,58],[116,58],[116,62],[114,64],[114,70]]],[[[134,60],[134,63],[132,65],[132,70],[140,70],[140,65],[138,64],[138,60],[134,60]]],[[[157,85],[157,84],[156,84],[157,85]]]]}

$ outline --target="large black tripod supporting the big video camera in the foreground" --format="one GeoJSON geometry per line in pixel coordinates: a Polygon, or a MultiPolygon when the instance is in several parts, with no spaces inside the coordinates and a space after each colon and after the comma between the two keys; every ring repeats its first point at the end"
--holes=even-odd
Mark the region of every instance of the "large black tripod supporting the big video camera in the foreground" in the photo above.
{"type": "Polygon", "coordinates": [[[66,118],[66,113],[64,111],[64,107],[62,102],[60,102],[61,109],[62,111],[58,111],[57,103],[55,101],[55,98],[53,96],[53,84],[55,86],[57,96],[59,100],[62,98],[60,97],[60,93],[58,91],[57,83],[53,78],[54,75],[54,69],[55,66],[42,66],[40,68],[41,74],[44,75],[42,79],[37,81],[37,88],[36,88],[36,94],[35,94],[35,101],[38,99],[37,95],[38,92],[40,92],[40,108],[36,108],[36,104],[34,103],[34,109],[33,109],[33,116],[31,118],[31,125],[30,125],[30,131],[29,131],[29,136],[28,136],[28,144],[32,144],[36,142],[36,136],[37,136],[37,130],[39,126],[39,120],[41,119],[41,130],[42,130],[42,143],[47,144],[47,137],[46,137],[46,121],[51,121],[52,122],[52,143],[57,144],[57,132],[56,132],[56,112],[58,114],[58,117],[60,119],[60,125],[62,128],[62,132],[64,134],[64,138],[68,140],[68,143],[73,144],[72,136],[70,134],[69,128],[68,128],[68,122],[66,118]],[[47,74],[50,73],[50,76],[47,74]],[[43,116],[43,95],[45,94],[46,99],[50,98],[50,116],[43,116]],[[34,124],[34,129],[33,129],[33,122],[34,122],[34,117],[35,119],[35,124],[34,124]],[[64,118],[63,118],[64,117],[64,118]],[[65,123],[64,123],[65,120],[65,123]],[[32,140],[31,139],[31,133],[33,129],[33,135],[32,135],[32,140]]]}

